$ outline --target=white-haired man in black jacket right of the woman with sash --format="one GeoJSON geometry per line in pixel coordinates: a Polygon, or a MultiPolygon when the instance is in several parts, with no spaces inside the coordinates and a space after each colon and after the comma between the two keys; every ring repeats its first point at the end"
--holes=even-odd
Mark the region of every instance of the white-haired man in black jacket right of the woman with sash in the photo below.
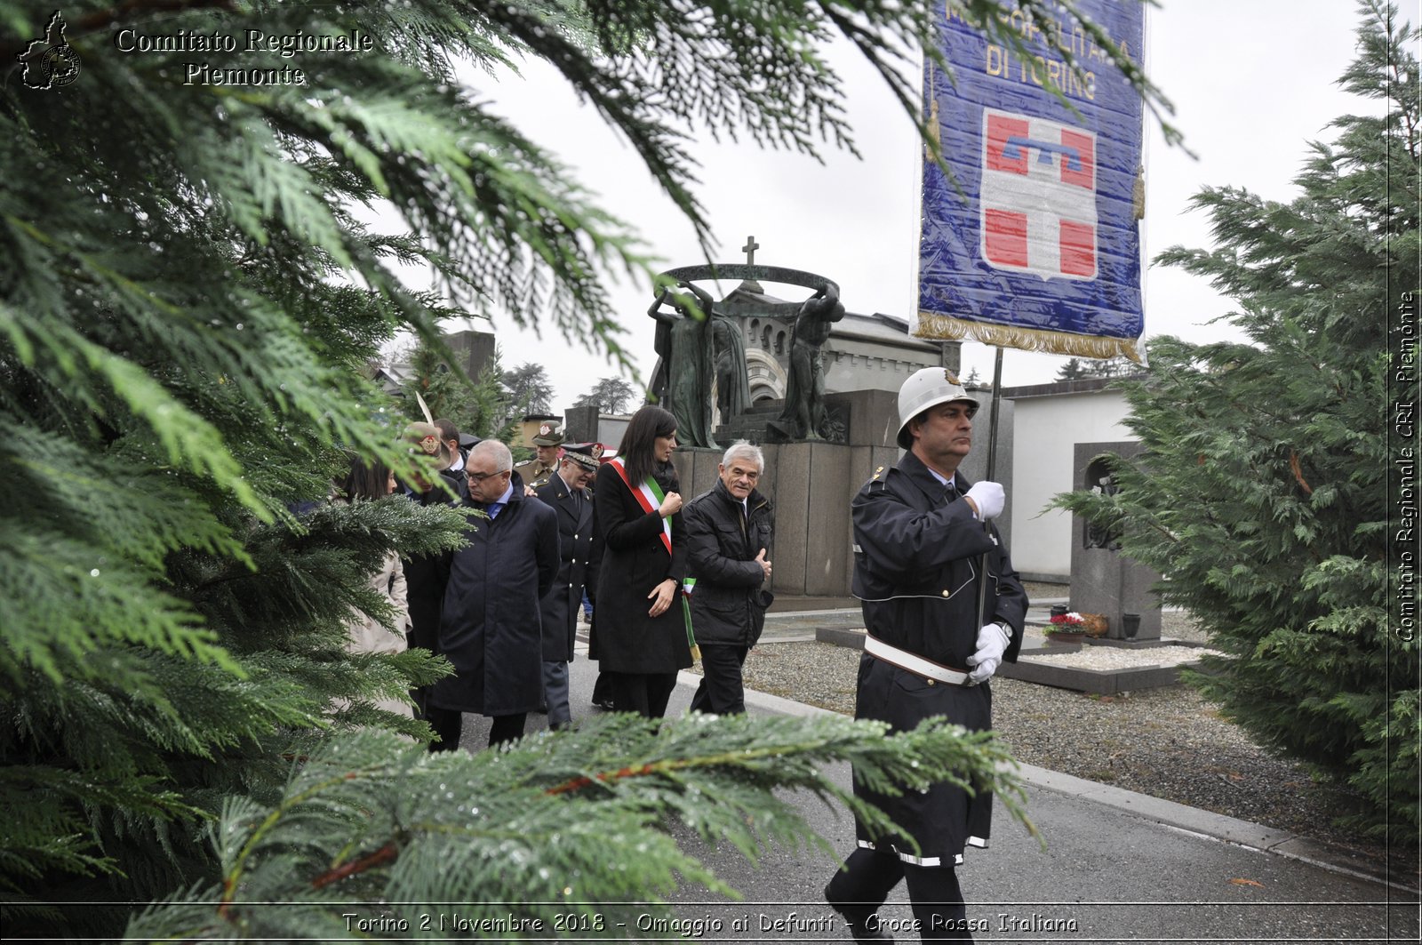
{"type": "Polygon", "coordinates": [[[695,578],[691,629],[704,670],[693,712],[745,712],[741,666],[761,639],[771,605],[771,502],[755,490],[764,471],[759,447],[734,444],[721,457],[717,484],[684,512],[687,559],[695,578]]]}

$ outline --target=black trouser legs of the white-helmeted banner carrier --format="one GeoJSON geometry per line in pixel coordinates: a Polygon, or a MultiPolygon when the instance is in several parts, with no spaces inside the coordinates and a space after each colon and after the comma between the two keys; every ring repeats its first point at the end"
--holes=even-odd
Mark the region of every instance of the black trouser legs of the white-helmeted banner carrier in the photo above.
{"type": "Polygon", "coordinates": [[[924,942],[971,942],[967,907],[953,867],[916,867],[896,854],[860,847],[825,887],[825,898],[848,921],[872,925],[876,909],[903,880],[924,942]]]}

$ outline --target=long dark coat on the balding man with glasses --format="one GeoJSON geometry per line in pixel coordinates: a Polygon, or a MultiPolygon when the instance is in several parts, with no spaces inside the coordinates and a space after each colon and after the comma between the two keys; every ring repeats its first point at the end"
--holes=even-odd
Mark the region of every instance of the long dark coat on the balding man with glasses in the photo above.
{"type": "Polygon", "coordinates": [[[557,575],[557,514],[513,492],[498,518],[471,517],[469,542],[449,561],[439,652],[455,675],[432,702],[485,716],[533,712],[543,700],[539,599],[557,575]]]}

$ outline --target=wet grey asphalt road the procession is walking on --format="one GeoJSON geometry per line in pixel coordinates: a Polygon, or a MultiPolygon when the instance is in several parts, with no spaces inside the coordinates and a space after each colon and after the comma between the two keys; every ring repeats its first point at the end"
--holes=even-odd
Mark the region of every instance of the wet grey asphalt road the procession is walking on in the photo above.
{"type": "MultiPolygon", "coordinates": [[[[582,648],[580,648],[582,649],[582,648]]],[[[572,665],[574,719],[590,704],[597,665],[572,665]]],[[[685,710],[695,677],[683,675],[670,714],[685,710]]],[[[751,712],[822,712],[748,693],[751,712]]],[[[529,732],[545,726],[529,717],[529,732]]],[[[465,717],[464,744],[479,750],[488,720],[465,717]]],[[[830,769],[849,784],[848,766],[830,769]]],[[[1330,862],[1307,840],[1258,824],[1024,769],[1028,815],[1045,848],[1005,814],[990,850],[968,850],[960,881],[974,938],[993,942],[1416,942],[1418,894],[1330,862]]],[[[687,848],[744,898],[675,898],[675,926],[627,929],[627,939],[663,942],[849,941],[820,891],[853,848],[853,821],[812,797],[798,798],[832,851],[774,848],[749,867],[734,850],[687,848]]],[[[900,885],[880,911],[897,941],[919,941],[900,885]]],[[[634,921],[633,925],[637,922],[634,921]]],[[[607,941],[603,938],[603,941],[607,941]]]]}

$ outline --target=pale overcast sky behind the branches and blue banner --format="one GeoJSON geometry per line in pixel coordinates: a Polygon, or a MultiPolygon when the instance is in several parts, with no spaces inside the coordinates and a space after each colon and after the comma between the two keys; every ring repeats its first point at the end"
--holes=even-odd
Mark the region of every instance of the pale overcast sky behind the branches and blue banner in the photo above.
{"type": "MultiPolygon", "coordinates": [[[[1416,20],[1415,0],[1404,16],[1416,20]]],[[[1189,158],[1162,142],[1146,118],[1145,250],[1207,246],[1202,213],[1186,212],[1203,185],[1236,185],[1270,199],[1290,199],[1290,181],[1305,158],[1305,141],[1330,139],[1335,117],[1379,105],[1345,95],[1335,80],[1354,56],[1358,24],[1349,0],[1163,0],[1146,19],[1146,68],[1175,102],[1175,122],[1189,158]]],[[[919,144],[912,124],[857,54],[836,50],[849,90],[849,121],[863,159],[829,152],[825,164],[749,144],[697,149],[704,169],[697,188],[720,243],[717,262],[745,262],[741,246],[754,235],[764,265],[811,270],[840,286],[850,312],[884,312],[903,319],[914,300],[919,226],[919,144]]],[[[603,205],[633,223],[665,268],[704,262],[690,223],[650,184],[630,148],[607,131],[592,108],[579,107],[542,63],[522,77],[479,75],[475,85],[512,117],[525,134],[553,151],[599,194],[603,205]]],[[[721,286],[725,295],[734,283],[721,286]]],[[[1206,342],[1230,332],[1206,324],[1230,310],[1206,283],[1177,270],[1150,266],[1145,275],[1146,336],[1176,334],[1206,342]]],[[[768,286],[785,297],[808,292],[768,286]]],[[[651,350],[651,296],[644,285],[614,287],[617,309],[631,330],[627,347],[638,359],[640,386],[656,361],[651,350]]],[[[476,323],[475,327],[479,327],[476,323]]],[[[486,323],[483,324],[486,327],[486,323]]],[[[546,366],[562,413],[609,364],[553,333],[539,340],[506,317],[493,329],[503,366],[546,366]]],[[[1049,381],[1065,359],[1007,350],[1004,384],[1049,381]]],[[[991,377],[993,349],[964,344],[963,373],[991,377]]]]}

